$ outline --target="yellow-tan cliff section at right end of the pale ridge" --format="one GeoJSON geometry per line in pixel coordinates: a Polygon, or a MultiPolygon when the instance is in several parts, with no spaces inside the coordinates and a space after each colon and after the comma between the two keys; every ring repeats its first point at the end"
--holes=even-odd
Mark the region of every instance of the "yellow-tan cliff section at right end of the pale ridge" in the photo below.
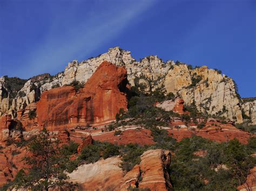
{"type": "Polygon", "coordinates": [[[201,112],[219,114],[242,123],[234,81],[214,69],[206,66],[188,69],[187,65],[175,65],[165,77],[165,87],[167,92],[179,94],[185,104],[194,102],[201,112]]]}

